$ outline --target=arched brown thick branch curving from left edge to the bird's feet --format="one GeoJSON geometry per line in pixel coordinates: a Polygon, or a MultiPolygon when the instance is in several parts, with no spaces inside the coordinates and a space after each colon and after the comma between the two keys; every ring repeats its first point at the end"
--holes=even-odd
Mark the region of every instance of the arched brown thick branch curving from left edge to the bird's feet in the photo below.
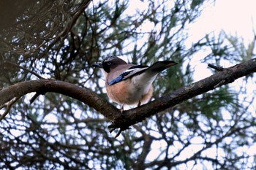
{"type": "Polygon", "coordinates": [[[28,82],[20,82],[8,88],[0,90],[0,106],[12,100],[12,98],[24,96],[27,93],[61,93],[66,96],[78,99],[89,107],[93,107],[102,115],[110,120],[115,120],[119,110],[112,104],[108,103],[103,98],[100,98],[96,93],[86,88],[80,88],[78,85],[73,85],[69,82],[59,80],[32,80],[28,82]]]}

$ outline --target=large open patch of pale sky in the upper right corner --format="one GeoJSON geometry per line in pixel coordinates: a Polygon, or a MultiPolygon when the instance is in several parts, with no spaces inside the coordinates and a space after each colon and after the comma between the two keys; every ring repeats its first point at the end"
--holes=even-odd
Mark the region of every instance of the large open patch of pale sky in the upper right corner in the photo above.
{"type": "Polygon", "coordinates": [[[217,0],[214,4],[206,4],[191,31],[200,36],[223,30],[227,34],[252,39],[252,28],[256,28],[255,8],[255,0],[217,0]]]}

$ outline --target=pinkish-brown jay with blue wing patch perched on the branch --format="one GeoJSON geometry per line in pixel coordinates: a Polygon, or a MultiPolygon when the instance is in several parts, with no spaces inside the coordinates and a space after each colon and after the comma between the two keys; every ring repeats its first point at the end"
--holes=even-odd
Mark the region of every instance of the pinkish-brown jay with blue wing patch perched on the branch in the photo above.
{"type": "Polygon", "coordinates": [[[163,70],[174,66],[175,61],[157,61],[151,66],[127,63],[113,55],[108,55],[93,66],[100,68],[105,76],[105,87],[108,97],[121,105],[146,104],[153,94],[153,81],[163,70]]]}

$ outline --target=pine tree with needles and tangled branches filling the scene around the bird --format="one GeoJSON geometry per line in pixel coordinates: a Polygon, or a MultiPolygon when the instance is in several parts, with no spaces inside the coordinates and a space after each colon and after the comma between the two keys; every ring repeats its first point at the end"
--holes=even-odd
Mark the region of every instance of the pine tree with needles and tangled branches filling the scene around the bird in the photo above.
{"type": "Polygon", "coordinates": [[[12,10],[1,11],[0,168],[255,167],[255,40],[210,34],[188,47],[206,2],[137,1],[132,12],[134,1],[2,2],[12,10]],[[214,75],[193,83],[203,49],[214,75]],[[179,64],[157,77],[153,102],[120,113],[92,67],[106,55],[179,64]]]}

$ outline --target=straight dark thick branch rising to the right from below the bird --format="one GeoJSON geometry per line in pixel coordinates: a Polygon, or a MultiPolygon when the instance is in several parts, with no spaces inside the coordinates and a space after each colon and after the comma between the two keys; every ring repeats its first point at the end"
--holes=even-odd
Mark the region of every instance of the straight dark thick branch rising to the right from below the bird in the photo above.
{"type": "Polygon", "coordinates": [[[113,124],[110,125],[109,128],[125,129],[130,125],[145,120],[146,117],[155,115],[157,112],[173,107],[176,104],[180,104],[182,101],[206,93],[209,90],[214,90],[214,88],[221,85],[231,83],[234,80],[252,74],[253,72],[256,72],[256,58],[223,69],[206,79],[187,85],[184,88],[179,88],[178,90],[173,91],[173,93],[157,98],[141,107],[124,111],[122,114],[116,116],[116,120],[113,121],[113,124]]]}

